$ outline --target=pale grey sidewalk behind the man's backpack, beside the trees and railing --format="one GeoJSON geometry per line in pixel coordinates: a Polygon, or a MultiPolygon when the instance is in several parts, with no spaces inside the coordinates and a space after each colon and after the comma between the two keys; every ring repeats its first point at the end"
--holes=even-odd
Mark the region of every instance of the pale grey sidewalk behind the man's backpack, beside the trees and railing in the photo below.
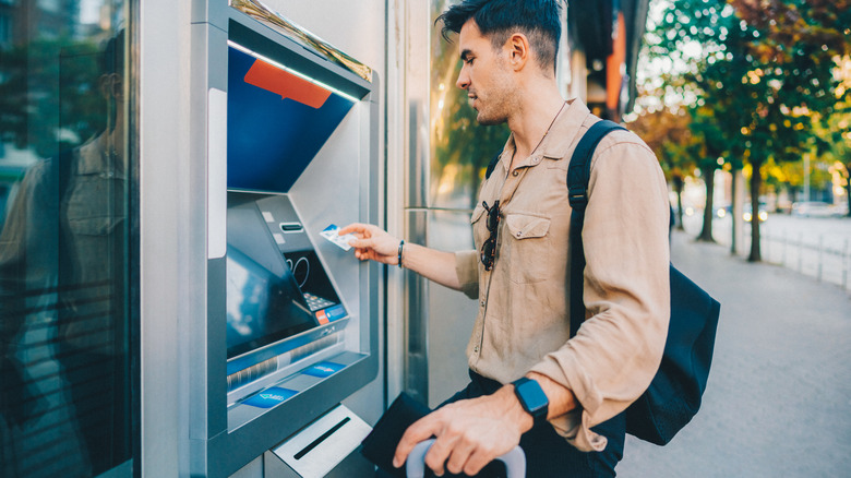
{"type": "Polygon", "coordinates": [[[618,476],[851,476],[851,295],[684,234],[672,261],[721,302],[704,405],[664,447],[628,437],[618,476]]]}

